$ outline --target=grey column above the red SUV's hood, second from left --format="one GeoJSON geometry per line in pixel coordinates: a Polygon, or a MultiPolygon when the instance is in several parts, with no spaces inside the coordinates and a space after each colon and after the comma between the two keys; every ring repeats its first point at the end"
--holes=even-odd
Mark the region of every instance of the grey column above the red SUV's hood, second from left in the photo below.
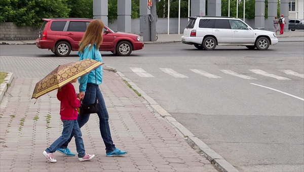
{"type": "Polygon", "coordinates": [[[131,33],[131,0],[117,0],[117,30],[131,33]]]}

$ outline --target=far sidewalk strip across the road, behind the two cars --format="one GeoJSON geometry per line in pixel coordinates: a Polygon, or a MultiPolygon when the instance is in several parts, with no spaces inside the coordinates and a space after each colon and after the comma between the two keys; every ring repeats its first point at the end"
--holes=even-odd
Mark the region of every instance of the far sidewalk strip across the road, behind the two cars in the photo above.
{"type": "MultiPolygon", "coordinates": [[[[181,42],[180,34],[158,34],[158,39],[156,41],[145,41],[144,44],[169,44],[181,42]]],[[[304,31],[285,31],[283,35],[277,34],[279,41],[304,41],[304,31]],[[283,38],[283,39],[281,39],[283,38]],[[286,39],[289,38],[289,39],[286,39]]],[[[142,38],[142,36],[141,36],[142,38]]],[[[36,44],[36,40],[0,40],[0,44],[36,44]]]]}

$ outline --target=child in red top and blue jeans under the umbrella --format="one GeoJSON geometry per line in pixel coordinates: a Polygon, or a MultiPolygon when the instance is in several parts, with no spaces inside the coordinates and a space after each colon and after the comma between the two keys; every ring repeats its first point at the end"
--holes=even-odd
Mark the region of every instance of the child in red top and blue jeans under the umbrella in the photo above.
{"type": "Polygon", "coordinates": [[[95,155],[90,155],[85,152],[82,133],[77,121],[77,108],[80,107],[82,95],[76,95],[75,88],[72,85],[73,82],[77,82],[77,78],[64,85],[57,92],[57,99],[60,101],[60,116],[61,121],[63,122],[63,131],[61,136],[50,147],[43,151],[43,155],[51,162],[57,162],[53,157],[53,153],[65,143],[71,135],[75,137],[76,150],[80,161],[90,160],[95,157],[95,155]]]}

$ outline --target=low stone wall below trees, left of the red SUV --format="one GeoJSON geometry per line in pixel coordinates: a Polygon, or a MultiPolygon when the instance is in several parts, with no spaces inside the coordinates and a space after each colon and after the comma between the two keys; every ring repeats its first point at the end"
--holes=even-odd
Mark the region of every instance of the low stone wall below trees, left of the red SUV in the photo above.
{"type": "Polygon", "coordinates": [[[1,40],[29,40],[37,37],[39,37],[39,29],[35,27],[18,27],[12,22],[0,22],[1,40]]]}

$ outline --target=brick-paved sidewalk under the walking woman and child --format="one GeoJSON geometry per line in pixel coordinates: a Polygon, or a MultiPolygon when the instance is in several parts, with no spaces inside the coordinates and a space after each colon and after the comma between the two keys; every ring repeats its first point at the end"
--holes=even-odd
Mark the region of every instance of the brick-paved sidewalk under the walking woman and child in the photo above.
{"type": "MultiPolygon", "coordinates": [[[[1,59],[1,63],[7,64],[9,58],[1,59]]],[[[130,89],[121,76],[108,70],[104,70],[100,88],[109,112],[112,139],[128,154],[105,156],[98,117],[91,114],[81,130],[86,152],[96,157],[80,162],[77,156],[67,157],[55,152],[57,163],[47,161],[42,152],[62,131],[60,102],[56,91],[37,101],[30,99],[35,83],[42,78],[38,75],[45,75],[48,70],[29,71],[32,77],[24,77],[25,72],[18,71],[18,65],[27,68],[44,64],[50,68],[68,61],[12,57],[9,62],[7,69],[2,70],[11,68],[15,77],[0,104],[0,171],[217,171],[187,144],[176,128],[130,89]]],[[[75,88],[78,90],[78,84],[75,88]]],[[[76,153],[74,140],[69,148],[76,153]]]]}

